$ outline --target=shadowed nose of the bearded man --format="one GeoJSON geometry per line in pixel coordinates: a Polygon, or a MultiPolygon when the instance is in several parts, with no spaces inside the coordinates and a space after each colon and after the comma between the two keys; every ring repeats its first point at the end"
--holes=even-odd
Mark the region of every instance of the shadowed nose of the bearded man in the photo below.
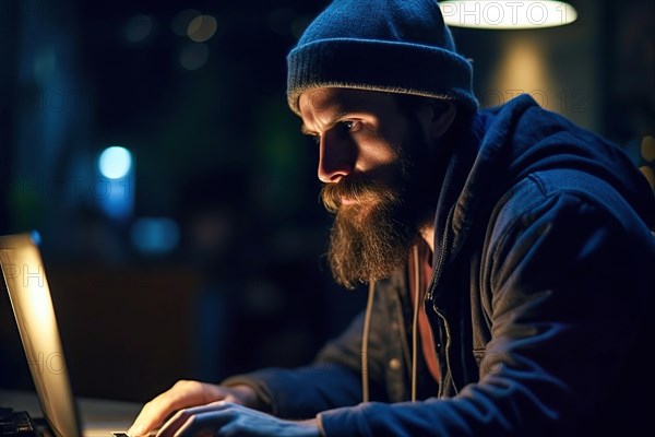
{"type": "Polygon", "coordinates": [[[319,179],[324,184],[338,182],[355,168],[355,147],[334,132],[325,132],[319,142],[319,179]]]}

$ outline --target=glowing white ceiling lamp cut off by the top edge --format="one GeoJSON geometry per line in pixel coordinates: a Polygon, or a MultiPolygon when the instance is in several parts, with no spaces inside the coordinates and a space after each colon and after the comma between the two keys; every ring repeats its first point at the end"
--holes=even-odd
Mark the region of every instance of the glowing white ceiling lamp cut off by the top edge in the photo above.
{"type": "Polygon", "coordinates": [[[440,1],[449,26],[517,29],[563,26],[577,19],[575,9],[563,1],[440,1]]]}

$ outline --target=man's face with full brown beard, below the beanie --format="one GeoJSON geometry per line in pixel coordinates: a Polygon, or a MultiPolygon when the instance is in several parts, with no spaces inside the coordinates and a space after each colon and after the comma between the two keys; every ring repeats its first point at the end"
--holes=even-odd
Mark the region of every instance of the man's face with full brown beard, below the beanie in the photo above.
{"type": "Polygon", "coordinates": [[[335,280],[354,287],[388,277],[433,211],[425,199],[432,187],[420,187],[429,161],[420,122],[386,93],[319,88],[302,94],[299,106],[302,131],[319,144],[321,199],[335,214],[335,280]]]}

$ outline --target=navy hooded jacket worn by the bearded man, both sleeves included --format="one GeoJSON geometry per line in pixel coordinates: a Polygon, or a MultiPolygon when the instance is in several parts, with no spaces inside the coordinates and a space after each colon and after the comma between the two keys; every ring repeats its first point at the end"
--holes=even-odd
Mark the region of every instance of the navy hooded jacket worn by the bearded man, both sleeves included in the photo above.
{"type": "Polygon", "coordinates": [[[362,316],[310,366],[224,383],[252,386],[278,416],[318,415],[325,436],[638,435],[654,393],[655,199],[628,156],[519,96],[475,116],[434,226],[425,305],[440,386],[421,359],[408,402],[406,272],[376,284],[371,402],[362,316]]]}

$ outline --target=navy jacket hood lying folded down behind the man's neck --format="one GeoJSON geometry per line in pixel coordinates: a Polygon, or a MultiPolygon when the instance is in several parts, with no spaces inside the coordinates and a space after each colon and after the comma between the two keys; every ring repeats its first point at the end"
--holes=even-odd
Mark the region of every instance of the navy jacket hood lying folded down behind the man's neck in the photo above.
{"type": "Polygon", "coordinates": [[[457,145],[441,188],[436,248],[443,244],[441,240],[450,239],[449,246],[456,252],[474,217],[480,216],[480,208],[493,203],[529,174],[555,168],[576,169],[605,180],[648,228],[655,228],[655,196],[628,155],[607,140],[539,107],[527,94],[478,111],[468,135],[457,145]],[[452,223],[440,223],[439,217],[445,217],[451,209],[452,223]]]}

